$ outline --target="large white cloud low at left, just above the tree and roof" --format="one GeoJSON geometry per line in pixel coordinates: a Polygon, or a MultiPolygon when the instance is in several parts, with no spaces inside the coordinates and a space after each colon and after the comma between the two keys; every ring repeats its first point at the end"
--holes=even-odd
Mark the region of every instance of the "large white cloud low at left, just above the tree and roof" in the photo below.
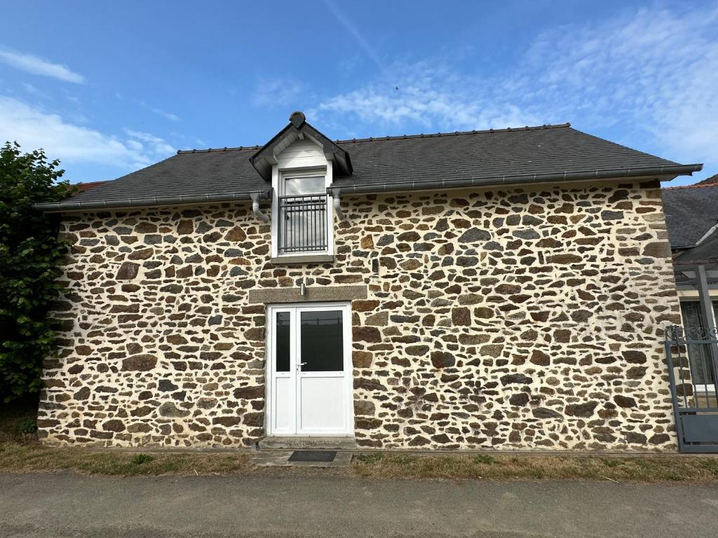
{"type": "Polygon", "coordinates": [[[120,140],[21,100],[0,96],[0,143],[17,141],[24,151],[43,148],[50,159],[63,163],[103,164],[123,170],[148,166],[174,152],[162,138],[136,131],[127,135],[126,140],[120,140]]]}

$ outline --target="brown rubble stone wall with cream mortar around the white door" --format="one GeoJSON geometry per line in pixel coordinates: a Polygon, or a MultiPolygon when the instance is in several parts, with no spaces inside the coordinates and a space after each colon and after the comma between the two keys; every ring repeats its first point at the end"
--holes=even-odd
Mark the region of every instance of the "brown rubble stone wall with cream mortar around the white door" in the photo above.
{"type": "Polygon", "coordinates": [[[264,305],[353,302],[356,437],[376,448],[675,450],[661,327],[679,322],[658,183],[345,197],[337,261],[271,265],[250,204],[67,214],[48,443],[264,435],[264,305]]]}

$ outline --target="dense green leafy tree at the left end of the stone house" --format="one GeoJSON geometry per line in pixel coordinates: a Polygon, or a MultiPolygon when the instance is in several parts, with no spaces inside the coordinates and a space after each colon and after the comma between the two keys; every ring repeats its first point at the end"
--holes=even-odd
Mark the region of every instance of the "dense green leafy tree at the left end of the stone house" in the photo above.
{"type": "Polygon", "coordinates": [[[48,312],[61,292],[55,277],[66,246],[57,216],[32,204],[70,194],[59,164],[17,143],[0,148],[0,402],[39,392],[42,361],[55,353],[48,312]]]}

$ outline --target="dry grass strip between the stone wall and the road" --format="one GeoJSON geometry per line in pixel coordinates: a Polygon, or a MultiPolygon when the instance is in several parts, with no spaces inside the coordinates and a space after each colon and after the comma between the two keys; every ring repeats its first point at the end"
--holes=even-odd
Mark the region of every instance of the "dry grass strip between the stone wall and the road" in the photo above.
{"type": "MultiPolygon", "coordinates": [[[[106,476],[266,473],[248,453],[126,453],[51,448],[37,440],[34,407],[0,405],[0,472],[75,471],[106,476]]],[[[273,473],[329,473],[320,468],[274,468],[273,473]]],[[[709,456],[519,456],[364,453],[346,477],[475,480],[589,480],[718,483],[718,458],[709,456]]]]}

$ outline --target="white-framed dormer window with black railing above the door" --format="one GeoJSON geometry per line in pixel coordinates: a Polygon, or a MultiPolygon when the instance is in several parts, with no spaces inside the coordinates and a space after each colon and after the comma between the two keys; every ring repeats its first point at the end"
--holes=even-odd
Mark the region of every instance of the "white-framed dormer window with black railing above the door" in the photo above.
{"type": "Polygon", "coordinates": [[[281,172],[277,197],[278,256],[329,253],[326,173],[281,172]]]}

